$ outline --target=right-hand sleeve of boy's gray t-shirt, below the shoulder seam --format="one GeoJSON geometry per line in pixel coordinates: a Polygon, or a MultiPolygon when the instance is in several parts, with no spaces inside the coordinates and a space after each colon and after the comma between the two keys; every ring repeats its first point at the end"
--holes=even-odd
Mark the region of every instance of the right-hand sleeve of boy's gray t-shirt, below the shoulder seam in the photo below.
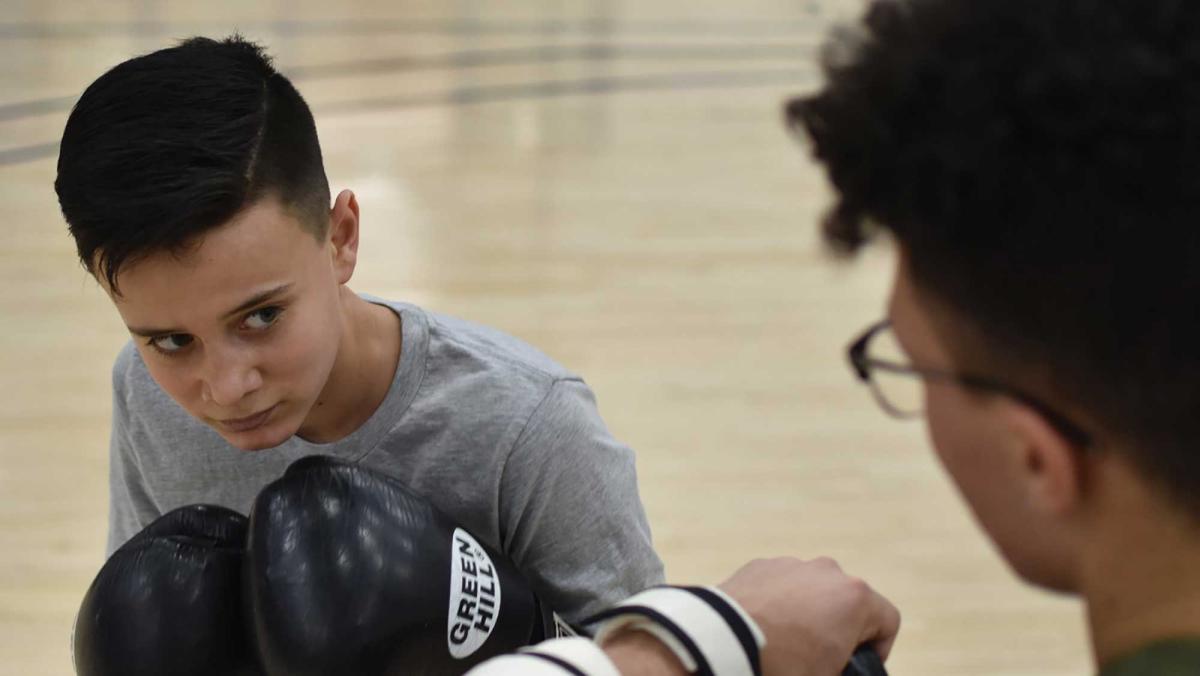
{"type": "Polygon", "coordinates": [[[551,387],[500,483],[504,550],[569,622],[662,582],[634,451],[608,432],[582,381],[551,387]]]}

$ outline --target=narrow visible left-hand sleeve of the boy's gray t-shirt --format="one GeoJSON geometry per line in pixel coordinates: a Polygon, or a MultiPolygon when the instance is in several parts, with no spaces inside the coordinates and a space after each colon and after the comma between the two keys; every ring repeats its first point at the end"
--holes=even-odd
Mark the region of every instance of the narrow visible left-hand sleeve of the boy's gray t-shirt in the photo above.
{"type": "Polygon", "coordinates": [[[104,556],[112,556],[126,540],[158,516],[158,509],[146,493],[137,453],[131,443],[130,409],[125,373],[132,348],[126,347],[113,366],[113,430],[108,444],[108,544],[104,556]]]}

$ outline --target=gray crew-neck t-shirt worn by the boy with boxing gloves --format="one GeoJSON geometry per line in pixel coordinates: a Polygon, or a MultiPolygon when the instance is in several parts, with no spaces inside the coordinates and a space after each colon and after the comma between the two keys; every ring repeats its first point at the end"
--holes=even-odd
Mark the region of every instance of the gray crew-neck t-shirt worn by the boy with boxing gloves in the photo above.
{"type": "Polygon", "coordinates": [[[592,390],[528,345],[413,305],[364,297],[401,317],[391,389],[348,437],[229,445],[150,377],[133,343],[113,367],[108,551],[175,507],[248,513],[305,455],[398,478],[504,551],[569,621],[662,582],[634,469],[592,390]]]}

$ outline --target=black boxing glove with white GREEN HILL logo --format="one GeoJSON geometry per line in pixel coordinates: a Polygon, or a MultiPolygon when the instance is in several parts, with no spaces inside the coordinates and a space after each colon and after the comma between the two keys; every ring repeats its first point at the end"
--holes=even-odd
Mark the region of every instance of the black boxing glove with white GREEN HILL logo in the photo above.
{"type": "Polygon", "coordinates": [[[502,554],[391,477],[305,457],[250,521],[245,594],[268,674],[462,674],[562,632],[502,554]]]}

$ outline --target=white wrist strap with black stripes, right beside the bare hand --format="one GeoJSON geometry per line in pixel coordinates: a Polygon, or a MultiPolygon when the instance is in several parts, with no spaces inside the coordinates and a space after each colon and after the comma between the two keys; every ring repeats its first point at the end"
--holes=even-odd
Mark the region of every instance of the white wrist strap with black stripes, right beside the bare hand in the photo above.
{"type": "Polygon", "coordinates": [[[648,632],[698,676],[761,676],[767,644],[758,626],[715,587],[654,587],[588,621],[595,641],[623,630],[648,632]]]}

